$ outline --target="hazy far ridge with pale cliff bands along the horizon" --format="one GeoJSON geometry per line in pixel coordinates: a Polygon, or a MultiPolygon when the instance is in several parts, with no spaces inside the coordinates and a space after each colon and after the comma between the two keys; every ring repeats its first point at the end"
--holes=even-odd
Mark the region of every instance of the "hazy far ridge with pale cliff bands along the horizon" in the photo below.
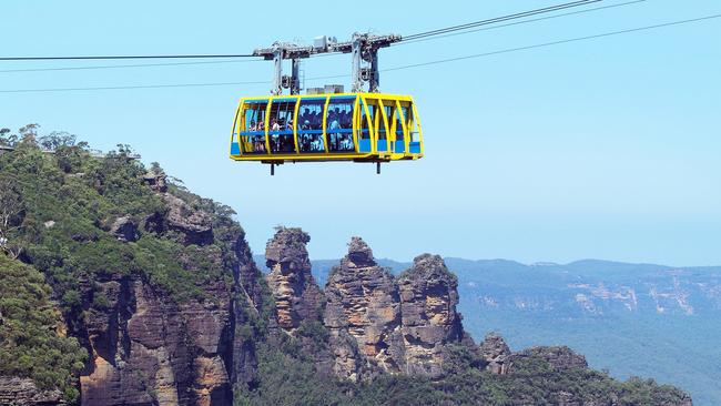
{"type": "MultiPolygon", "coordinates": [[[[256,255],[263,264],[263,255],[256,255]]],[[[479,287],[478,283],[520,288],[534,292],[540,287],[572,292],[572,300],[561,295],[547,305],[577,307],[583,313],[602,313],[620,305],[629,312],[652,308],[659,314],[721,311],[721,266],[676,267],[657,264],[632,264],[602,260],[581,260],[568,264],[534,263],[526,265],[508,260],[444,258],[458,275],[465,288],[479,287]],[[524,276],[519,284],[519,276],[524,276]],[[477,281],[479,280],[479,281],[477,281]],[[531,285],[530,282],[538,282],[531,285]]],[[[410,267],[410,262],[388,258],[377,260],[393,274],[410,267]]],[[[313,273],[321,285],[325,284],[336,260],[314,260],[313,273]]],[[[477,293],[477,292],[476,292],[477,293]]],[[[547,292],[548,293],[548,292],[547,292]]],[[[488,300],[496,300],[492,296],[488,300]]],[[[500,297],[498,297],[500,298],[500,297]]],[[[529,304],[530,305],[530,304],[529,304]]],[[[580,315],[580,314],[579,314],[580,315]]]]}

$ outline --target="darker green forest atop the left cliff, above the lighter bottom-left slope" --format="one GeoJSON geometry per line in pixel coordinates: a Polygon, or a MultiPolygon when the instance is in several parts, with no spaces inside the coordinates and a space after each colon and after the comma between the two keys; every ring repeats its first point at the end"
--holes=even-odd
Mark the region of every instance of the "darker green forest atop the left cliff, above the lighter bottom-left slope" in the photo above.
{"type": "MultiPolygon", "coordinates": [[[[0,155],[0,183],[11,179],[12,187],[3,190],[17,191],[22,202],[22,209],[11,216],[7,245],[20,252],[14,256],[48,275],[65,312],[80,314],[71,312],[83,305],[80,281],[108,275],[141,275],[179,302],[209,298],[200,287],[209,280],[225,281],[230,288],[232,275],[223,270],[231,268],[224,265],[231,261],[234,238],[242,234],[230,207],[200,199],[182,185],[171,185],[170,193],[190,207],[213,214],[214,243],[185,246],[177,232],[144,230],[146,219],[162,219],[167,209],[143,184],[146,170],[131,158],[128,145],[93,158],[87,144],[75,144],[72,135],[37,138],[29,131],[21,130],[24,135],[16,136],[20,141],[12,142],[14,151],[0,155]],[[136,242],[119,241],[109,233],[121,216],[140,229],[136,242]]],[[[7,139],[4,143],[10,144],[7,139]]],[[[12,197],[0,199],[0,203],[12,197]]],[[[97,304],[102,305],[102,300],[97,304]]]]}

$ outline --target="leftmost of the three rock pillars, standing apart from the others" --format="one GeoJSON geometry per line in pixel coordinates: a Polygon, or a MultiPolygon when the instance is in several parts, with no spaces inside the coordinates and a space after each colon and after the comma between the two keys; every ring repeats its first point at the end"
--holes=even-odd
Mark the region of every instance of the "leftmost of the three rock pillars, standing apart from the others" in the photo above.
{"type": "Polygon", "coordinates": [[[311,274],[305,247],[311,241],[301,229],[276,230],[265,248],[266,276],[275,298],[278,326],[285,331],[298,327],[302,321],[321,318],[323,293],[311,274]]]}

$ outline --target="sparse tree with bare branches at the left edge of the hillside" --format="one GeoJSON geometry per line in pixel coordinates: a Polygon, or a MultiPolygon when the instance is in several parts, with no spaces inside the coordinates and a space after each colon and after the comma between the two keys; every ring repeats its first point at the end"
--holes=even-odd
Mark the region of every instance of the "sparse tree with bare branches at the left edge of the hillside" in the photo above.
{"type": "Polygon", "coordinates": [[[13,244],[12,232],[19,229],[24,211],[18,182],[10,176],[0,177],[0,250],[17,258],[22,247],[13,244]]]}

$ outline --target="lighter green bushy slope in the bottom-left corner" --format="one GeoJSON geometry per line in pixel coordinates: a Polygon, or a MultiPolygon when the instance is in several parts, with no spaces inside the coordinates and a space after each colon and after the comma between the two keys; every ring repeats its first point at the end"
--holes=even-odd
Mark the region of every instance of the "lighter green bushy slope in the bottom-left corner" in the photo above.
{"type": "Polygon", "coordinates": [[[42,389],[78,398],[77,374],[88,354],[63,337],[61,318],[40,272],[0,254],[0,375],[32,378],[42,389]]]}

